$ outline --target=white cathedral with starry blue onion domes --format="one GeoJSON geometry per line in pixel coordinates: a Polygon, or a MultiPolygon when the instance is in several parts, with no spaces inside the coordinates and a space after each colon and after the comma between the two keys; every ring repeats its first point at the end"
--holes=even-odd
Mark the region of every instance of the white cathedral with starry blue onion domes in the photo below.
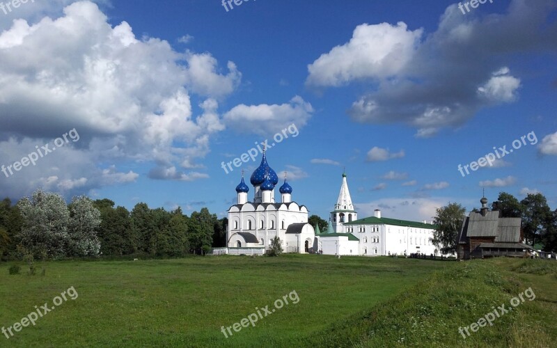
{"type": "Polygon", "coordinates": [[[260,166],[251,174],[253,201],[249,187],[242,181],[236,187],[237,204],[228,209],[227,253],[262,255],[278,236],[287,253],[308,253],[313,249],[315,230],[308,223],[308,208],[292,201],[292,187],[284,179],[278,189],[281,202],[274,193],[278,184],[275,171],[267,163],[265,151],[260,166]]]}

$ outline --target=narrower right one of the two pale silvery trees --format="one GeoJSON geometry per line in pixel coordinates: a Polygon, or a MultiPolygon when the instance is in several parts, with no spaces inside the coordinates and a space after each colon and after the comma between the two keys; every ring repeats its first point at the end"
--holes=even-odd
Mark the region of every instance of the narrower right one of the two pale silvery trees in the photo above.
{"type": "Polygon", "coordinates": [[[100,211],[93,200],[86,196],[72,198],[68,223],[69,245],[67,253],[72,256],[97,256],[100,242],[97,231],[100,227],[100,211]]]}

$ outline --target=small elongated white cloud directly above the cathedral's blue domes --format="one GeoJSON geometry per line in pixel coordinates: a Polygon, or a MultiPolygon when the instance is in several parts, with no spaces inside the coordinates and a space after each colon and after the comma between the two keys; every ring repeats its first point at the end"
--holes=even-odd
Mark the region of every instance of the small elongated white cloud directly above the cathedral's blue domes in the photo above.
{"type": "Polygon", "coordinates": [[[224,114],[227,126],[240,133],[268,136],[295,124],[301,129],[313,114],[313,107],[299,96],[285,104],[240,104],[224,114]]]}

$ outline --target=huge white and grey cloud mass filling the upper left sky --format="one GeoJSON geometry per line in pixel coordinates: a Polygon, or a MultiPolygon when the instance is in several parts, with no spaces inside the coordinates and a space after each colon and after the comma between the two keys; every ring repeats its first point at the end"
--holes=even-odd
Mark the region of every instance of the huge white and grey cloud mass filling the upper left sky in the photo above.
{"type": "Polygon", "coordinates": [[[22,6],[18,14],[29,20],[0,33],[0,114],[10,116],[0,118],[0,161],[13,163],[68,129],[81,140],[2,182],[0,195],[22,196],[43,183],[82,193],[133,182],[136,173],[116,168],[126,161],[154,162],[157,179],[207,177],[177,167],[201,168],[196,160],[224,129],[217,101],[240,84],[236,65],[223,69],[210,53],[182,54],[165,40],[136,38],[130,24],[111,26],[91,1],[56,10],[69,2],[28,3],[35,12],[25,17],[22,6]],[[191,95],[204,101],[192,106],[191,95]]]}

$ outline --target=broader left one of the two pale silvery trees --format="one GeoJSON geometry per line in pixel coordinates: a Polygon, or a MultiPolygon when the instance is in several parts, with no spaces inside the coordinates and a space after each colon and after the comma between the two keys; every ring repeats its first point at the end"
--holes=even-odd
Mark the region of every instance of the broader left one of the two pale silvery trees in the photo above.
{"type": "Polygon", "coordinates": [[[23,217],[19,244],[36,258],[60,258],[68,246],[70,211],[58,193],[36,190],[31,199],[19,200],[17,207],[23,217]]]}

